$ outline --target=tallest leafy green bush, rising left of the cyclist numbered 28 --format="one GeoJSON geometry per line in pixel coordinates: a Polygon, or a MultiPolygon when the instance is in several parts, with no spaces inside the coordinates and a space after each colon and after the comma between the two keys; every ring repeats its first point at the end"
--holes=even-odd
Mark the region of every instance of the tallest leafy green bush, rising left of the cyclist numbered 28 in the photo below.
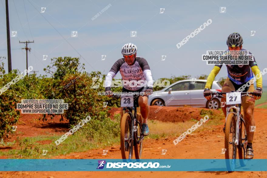
{"type": "MultiPolygon", "coordinates": [[[[47,99],[64,99],[69,103],[69,108],[64,111],[62,116],[69,120],[69,124],[75,125],[82,118],[90,115],[98,118],[103,111],[103,101],[105,96],[99,96],[97,91],[90,89],[92,86],[92,77],[103,77],[100,72],[91,74],[77,71],[84,71],[84,64],[79,63],[79,58],[59,57],[51,59],[52,65],[44,69],[47,73],[52,74],[52,83],[49,84],[49,93],[47,99]],[[52,71],[51,69],[55,69],[52,71]],[[77,76],[81,76],[79,79],[77,76]],[[66,86],[69,82],[71,85],[66,86]]],[[[106,113],[107,111],[104,110],[106,113]]],[[[53,115],[52,115],[53,116],[53,115]]]]}

